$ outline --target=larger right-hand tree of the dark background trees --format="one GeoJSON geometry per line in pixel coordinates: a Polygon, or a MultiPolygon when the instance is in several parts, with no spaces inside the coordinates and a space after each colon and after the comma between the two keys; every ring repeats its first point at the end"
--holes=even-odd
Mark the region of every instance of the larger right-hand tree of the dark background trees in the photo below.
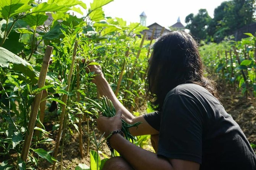
{"type": "Polygon", "coordinates": [[[214,18],[209,24],[208,35],[219,42],[237,29],[255,22],[255,0],[232,0],[222,2],[214,10],[214,18]]]}

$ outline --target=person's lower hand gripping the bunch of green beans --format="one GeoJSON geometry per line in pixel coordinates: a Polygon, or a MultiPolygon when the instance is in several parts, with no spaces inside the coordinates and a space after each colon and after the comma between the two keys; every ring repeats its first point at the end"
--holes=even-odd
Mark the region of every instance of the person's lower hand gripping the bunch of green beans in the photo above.
{"type": "Polygon", "coordinates": [[[99,116],[97,119],[97,128],[100,132],[104,133],[104,136],[107,137],[114,130],[122,129],[122,121],[121,121],[122,111],[118,110],[117,114],[111,118],[107,118],[104,116],[99,116]]]}

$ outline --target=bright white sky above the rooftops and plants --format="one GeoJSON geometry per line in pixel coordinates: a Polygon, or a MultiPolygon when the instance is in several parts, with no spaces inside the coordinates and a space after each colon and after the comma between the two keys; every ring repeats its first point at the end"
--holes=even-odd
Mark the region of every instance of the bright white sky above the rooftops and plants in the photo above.
{"type": "MultiPolygon", "coordinates": [[[[83,0],[88,4],[88,0],[83,0]]],[[[89,0],[90,1],[90,0],[89,0]]],[[[139,15],[144,11],[147,15],[146,26],[157,22],[169,27],[180,21],[185,24],[188,14],[197,14],[205,8],[213,17],[214,9],[225,0],[114,0],[103,6],[106,16],[121,17],[128,22],[139,22],[139,15]]],[[[227,1],[227,0],[226,0],[227,1]]],[[[89,7],[89,4],[87,5],[89,7]]]]}

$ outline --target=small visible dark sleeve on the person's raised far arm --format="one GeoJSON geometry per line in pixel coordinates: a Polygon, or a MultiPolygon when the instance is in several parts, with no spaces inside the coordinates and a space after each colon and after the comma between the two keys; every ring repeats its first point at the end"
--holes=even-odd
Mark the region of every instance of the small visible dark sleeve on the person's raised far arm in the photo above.
{"type": "Polygon", "coordinates": [[[148,114],[143,114],[143,118],[147,121],[147,123],[159,131],[160,129],[160,113],[158,111],[148,113],[148,114]]]}

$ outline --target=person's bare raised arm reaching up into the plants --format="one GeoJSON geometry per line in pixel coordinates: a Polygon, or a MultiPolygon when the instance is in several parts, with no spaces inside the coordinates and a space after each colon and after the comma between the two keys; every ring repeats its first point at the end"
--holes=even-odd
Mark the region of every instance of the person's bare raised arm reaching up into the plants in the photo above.
{"type": "Polygon", "coordinates": [[[115,93],[111,89],[109,83],[105,79],[102,70],[99,65],[89,65],[90,71],[94,71],[94,80],[92,81],[97,86],[97,90],[99,91],[101,96],[106,96],[109,100],[112,101],[115,110],[121,110],[123,112],[122,118],[129,124],[134,124],[136,122],[142,122],[137,127],[131,127],[129,129],[131,135],[153,135],[158,134],[159,132],[151,127],[147,121],[143,118],[143,116],[135,117],[130,113],[122,103],[117,99],[115,93]]]}

